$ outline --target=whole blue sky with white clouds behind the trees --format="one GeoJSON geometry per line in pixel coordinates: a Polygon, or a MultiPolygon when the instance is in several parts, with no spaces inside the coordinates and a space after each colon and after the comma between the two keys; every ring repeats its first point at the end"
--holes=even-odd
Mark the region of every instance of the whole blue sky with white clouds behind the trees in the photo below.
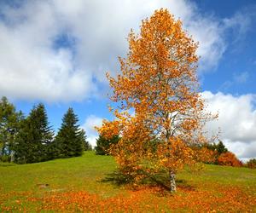
{"type": "Polygon", "coordinates": [[[256,3],[251,0],[0,0],[0,96],[26,115],[44,103],[57,131],[68,107],[87,139],[111,119],[105,73],[141,20],[165,8],[199,42],[198,76],[211,133],[242,160],[256,158],[256,3]]]}

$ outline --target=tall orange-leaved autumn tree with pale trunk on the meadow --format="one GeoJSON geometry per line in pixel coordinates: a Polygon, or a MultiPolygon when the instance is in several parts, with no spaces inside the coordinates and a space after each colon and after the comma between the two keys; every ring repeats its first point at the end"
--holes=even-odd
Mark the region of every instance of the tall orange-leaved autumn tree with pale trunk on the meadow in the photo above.
{"type": "Polygon", "coordinates": [[[112,153],[124,175],[140,179],[137,171],[166,170],[175,191],[177,171],[195,164],[190,146],[206,141],[202,127],[213,118],[204,113],[196,76],[198,44],[166,9],[143,20],[128,42],[127,57],[119,58],[121,74],[107,73],[111,100],[119,108],[111,109],[115,119],[105,120],[98,131],[107,139],[122,135],[112,153]],[[155,139],[160,142],[153,152],[148,143],[155,139]]]}

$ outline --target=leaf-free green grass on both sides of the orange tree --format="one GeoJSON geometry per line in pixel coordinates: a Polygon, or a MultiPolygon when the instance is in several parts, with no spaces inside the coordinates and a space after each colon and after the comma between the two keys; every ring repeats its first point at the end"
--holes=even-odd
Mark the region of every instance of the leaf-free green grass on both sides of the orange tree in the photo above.
{"type": "MultiPolygon", "coordinates": [[[[211,188],[214,184],[235,186],[256,198],[256,170],[218,165],[205,167],[205,170],[197,173],[188,170],[179,173],[177,185],[195,188],[201,185],[211,188]]],[[[97,156],[94,152],[85,152],[78,158],[56,159],[38,164],[2,163],[0,164],[0,211],[1,205],[13,206],[17,199],[26,200],[27,196],[42,197],[46,192],[86,191],[106,199],[125,193],[125,187],[114,185],[111,181],[102,181],[115,169],[116,164],[112,157],[97,156]],[[40,184],[49,184],[49,186],[41,188],[40,184]]],[[[29,203],[25,202],[25,205],[28,209],[32,208],[29,203]]]]}

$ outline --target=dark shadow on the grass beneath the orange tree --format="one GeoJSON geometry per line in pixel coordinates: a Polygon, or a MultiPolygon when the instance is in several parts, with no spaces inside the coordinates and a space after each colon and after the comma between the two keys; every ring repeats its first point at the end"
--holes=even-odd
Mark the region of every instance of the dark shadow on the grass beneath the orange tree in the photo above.
{"type": "MultiPolygon", "coordinates": [[[[119,170],[114,170],[112,173],[107,174],[101,182],[110,182],[113,185],[120,186],[131,186],[134,183],[134,180],[131,176],[124,176],[119,170]]],[[[176,180],[177,187],[185,191],[195,191],[195,187],[189,185],[188,181],[183,179],[176,180]]],[[[170,180],[166,172],[160,172],[155,175],[145,177],[141,182],[141,186],[147,187],[160,187],[162,193],[170,192],[170,180]]]]}

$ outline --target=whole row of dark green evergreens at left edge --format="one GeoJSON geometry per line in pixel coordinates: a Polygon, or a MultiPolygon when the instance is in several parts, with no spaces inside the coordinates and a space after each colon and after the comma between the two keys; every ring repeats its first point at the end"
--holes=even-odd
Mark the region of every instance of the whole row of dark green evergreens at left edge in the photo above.
{"type": "Polygon", "coordinates": [[[49,125],[44,104],[32,107],[27,117],[2,97],[0,101],[0,160],[30,164],[55,158],[80,156],[90,150],[79,118],[68,108],[61,128],[55,131],[49,125]]]}

